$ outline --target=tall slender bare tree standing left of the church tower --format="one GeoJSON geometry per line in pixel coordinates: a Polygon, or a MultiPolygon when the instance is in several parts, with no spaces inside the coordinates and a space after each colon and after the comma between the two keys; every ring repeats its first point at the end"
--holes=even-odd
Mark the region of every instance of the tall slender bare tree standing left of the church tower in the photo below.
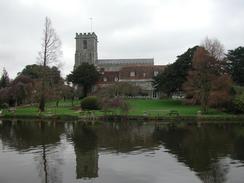
{"type": "Polygon", "coordinates": [[[61,55],[61,41],[57,36],[54,28],[52,27],[51,20],[48,17],[46,17],[43,29],[41,51],[39,52],[39,57],[37,58],[38,63],[43,66],[42,87],[39,102],[39,110],[41,112],[45,110],[45,83],[48,79],[48,76],[45,73],[46,67],[52,64],[57,64],[59,62],[59,58],[61,55]]]}

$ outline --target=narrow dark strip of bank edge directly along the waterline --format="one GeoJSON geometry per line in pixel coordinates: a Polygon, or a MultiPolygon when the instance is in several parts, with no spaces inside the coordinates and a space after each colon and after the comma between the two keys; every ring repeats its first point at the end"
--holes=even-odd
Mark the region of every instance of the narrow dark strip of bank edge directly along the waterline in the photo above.
{"type": "Polygon", "coordinates": [[[52,115],[52,116],[34,116],[34,115],[6,115],[1,116],[0,120],[60,120],[60,121],[143,121],[143,122],[187,122],[187,123],[243,123],[244,115],[230,116],[124,116],[124,115],[107,115],[107,116],[72,116],[72,115],[52,115]]]}

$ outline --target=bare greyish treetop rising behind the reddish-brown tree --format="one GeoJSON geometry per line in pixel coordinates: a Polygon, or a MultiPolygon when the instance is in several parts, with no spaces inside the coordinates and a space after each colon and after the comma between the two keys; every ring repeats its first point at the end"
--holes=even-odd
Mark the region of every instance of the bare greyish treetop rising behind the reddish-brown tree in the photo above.
{"type": "Polygon", "coordinates": [[[209,39],[206,37],[202,43],[201,47],[204,47],[208,51],[210,56],[214,57],[216,60],[221,61],[225,57],[224,45],[220,43],[218,39],[209,39]]]}

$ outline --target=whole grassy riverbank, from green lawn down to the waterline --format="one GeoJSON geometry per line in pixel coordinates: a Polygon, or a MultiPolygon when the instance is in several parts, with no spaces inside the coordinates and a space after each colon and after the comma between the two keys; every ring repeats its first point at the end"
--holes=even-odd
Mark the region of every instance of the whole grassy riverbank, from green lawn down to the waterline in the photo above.
{"type": "Polygon", "coordinates": [[[20,106],[12,111],[5,111],[0,119],[51,119],[79,121],[238,121],[244,122],[244,115],[230,115],[216,109],[209,109],[208,114],[199,114],[200,106],[185,105],[175,100],[128,99],[128,114],[119,111],[80,111],[79,101],[48,102],[44,113],[39,113],[37,106],[20,106]]]}

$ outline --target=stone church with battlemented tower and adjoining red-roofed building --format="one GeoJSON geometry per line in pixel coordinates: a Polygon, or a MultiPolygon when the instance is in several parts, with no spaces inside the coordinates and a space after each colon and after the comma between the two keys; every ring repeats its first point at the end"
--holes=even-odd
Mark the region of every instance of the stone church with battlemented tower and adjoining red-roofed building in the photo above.
{"type": "Polygon", "coordinates": [[[165,68],[154,65],[153,58],[132,59],[99,59],[97,51],[97,35],[93,33],[76,33],[75,65],[86,62],[94,64],[102,77],[98,87],[106,87],[115,82],[127,82],[139,86],[150,98],[157,98],[154,92],[152,78],[165,68]]]}

